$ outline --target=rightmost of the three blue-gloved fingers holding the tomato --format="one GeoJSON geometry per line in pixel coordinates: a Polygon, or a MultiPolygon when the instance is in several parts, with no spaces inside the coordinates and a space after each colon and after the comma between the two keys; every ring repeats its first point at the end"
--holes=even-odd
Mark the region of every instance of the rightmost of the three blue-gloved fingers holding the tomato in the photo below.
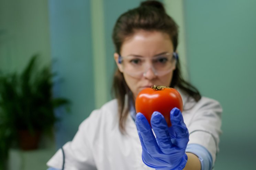
{"type": "Polygon", "coordinates": [[[176,135],[176,145],[179,148],[186,147],[189,142],[189,131],[178,108],[173,108],[171,110],[170,119],[176,135]]]}

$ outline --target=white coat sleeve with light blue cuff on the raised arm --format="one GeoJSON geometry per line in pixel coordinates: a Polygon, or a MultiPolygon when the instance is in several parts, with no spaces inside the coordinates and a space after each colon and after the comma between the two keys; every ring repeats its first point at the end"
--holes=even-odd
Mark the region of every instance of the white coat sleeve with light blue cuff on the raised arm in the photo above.
{"type": "Polygon", "coordinates": [[[186,152],[198,156],[202,169],[212,169],[218,152],[221,135],[220,104],[213,99],[203,97],[196,106],[185,113],[184,118],[191,115],[186,122],[189,130],[189,143],[186,152]]]}

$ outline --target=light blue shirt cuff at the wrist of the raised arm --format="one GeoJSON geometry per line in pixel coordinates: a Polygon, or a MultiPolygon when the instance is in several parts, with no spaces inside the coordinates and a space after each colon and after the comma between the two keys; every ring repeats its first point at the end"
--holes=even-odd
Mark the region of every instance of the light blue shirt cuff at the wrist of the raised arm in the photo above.
{"type": "Polygon", "coordinates": [[[186,152],[195,154],[201,162],[201,170],[211,170],[212,169],[212,156],[210,152],[199,144],[188,144],[186,147],[186,152]]]}

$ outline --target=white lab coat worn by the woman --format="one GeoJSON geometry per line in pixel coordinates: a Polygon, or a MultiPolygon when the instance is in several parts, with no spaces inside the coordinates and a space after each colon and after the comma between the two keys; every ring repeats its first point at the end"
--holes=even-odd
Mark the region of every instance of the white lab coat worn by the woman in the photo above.
{"type": "MultiPolygon", "coordinates": [[[[183,100],[183,119],[188,127],[189,144],[204,146],[213,162],[218,152],[221,134],[220,104],[213,99],[202,97],[195,102],[179,91],[183,100]]],[[[94,110],[85,119],[71,142],[64,146],[65,169],[67,170],[149,170],[141,159],[140,145],[134,120],[128,116],[126,135],[118,126],[117,100],[107,102],[94,110]]],[[[47,162],[47,166],[61,169],[62,151],[47,162]]]]}

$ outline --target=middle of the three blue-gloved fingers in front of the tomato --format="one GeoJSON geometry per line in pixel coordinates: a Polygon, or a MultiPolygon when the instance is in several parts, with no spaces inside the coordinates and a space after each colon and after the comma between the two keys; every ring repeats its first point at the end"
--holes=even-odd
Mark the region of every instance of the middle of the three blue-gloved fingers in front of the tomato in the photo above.
{"type": "Polygon", "coordinates": [[[156,134],[156,139],[160,150],[164,154],[171,153],[171,137],[169,134],[169,128],[164,119],[163,115],[157,111],[155,111],[151,116],[151,126],[156,134]]]}

